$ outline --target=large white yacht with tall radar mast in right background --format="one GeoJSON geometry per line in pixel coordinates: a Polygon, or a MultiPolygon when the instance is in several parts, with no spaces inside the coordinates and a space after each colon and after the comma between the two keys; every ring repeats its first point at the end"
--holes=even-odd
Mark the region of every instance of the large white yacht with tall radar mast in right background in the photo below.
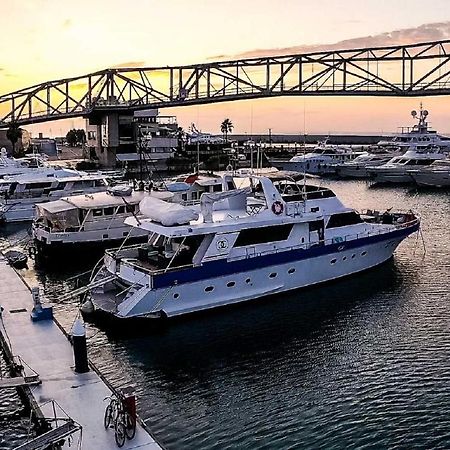
{"type": "Polygon", "coordinates": [[[419,113],[411,111],[417,124],[412,127],[402,127],[400,133],[395,133],[387,139],[378,142],[379,148],[408,150],[414,146],[417,150],[426,150],[429,146],[437,146],[443,151],[450,151],[450,138],[438,134],[428,127],[428,111],[420,104],[419,113]]]}

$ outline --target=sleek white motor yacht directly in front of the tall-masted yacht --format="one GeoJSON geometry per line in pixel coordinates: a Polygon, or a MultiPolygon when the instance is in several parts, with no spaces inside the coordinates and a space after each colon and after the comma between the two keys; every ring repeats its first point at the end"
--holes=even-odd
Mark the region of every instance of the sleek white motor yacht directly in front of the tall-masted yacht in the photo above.
{"type": "Polygon", "coordinates": [[[432,146],[427,150],[418,151],[412,148],[404,155],[395,156],[381,166],[368,166],[367,172],[375,183],[411,183],[409,170],[429,166],[434,161],[446,158],[439,147],[432,146]]]}

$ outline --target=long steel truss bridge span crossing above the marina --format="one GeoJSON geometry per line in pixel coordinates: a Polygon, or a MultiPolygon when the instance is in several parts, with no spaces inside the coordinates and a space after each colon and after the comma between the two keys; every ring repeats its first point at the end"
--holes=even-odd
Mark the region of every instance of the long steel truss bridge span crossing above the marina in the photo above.
{"type": "Polygon", "coordinates": [[[450,40],[106,69],[0,96],[0,127],[276,96],[450,94],[450,40]]]}

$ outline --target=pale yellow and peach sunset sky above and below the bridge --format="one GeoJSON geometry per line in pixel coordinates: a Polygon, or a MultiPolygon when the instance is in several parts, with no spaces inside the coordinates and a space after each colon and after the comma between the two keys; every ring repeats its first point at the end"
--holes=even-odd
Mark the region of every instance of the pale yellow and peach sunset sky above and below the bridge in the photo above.
{"type": "MultiPolygon", "coordinates": [[[[120,65],[201,63],[450,38],[449,0],[2,0],[0,93],[120,65]],[[6,38],[7,37],[7,38],[6,38]]],[[[421,99],[296,97],[162,110],[219,132],[393,132],[421,99]]],[[[450,132],[447,97],[422,99],[450,132]]],[[[82,121],[29,127],[53,136],[82,121]]]]}

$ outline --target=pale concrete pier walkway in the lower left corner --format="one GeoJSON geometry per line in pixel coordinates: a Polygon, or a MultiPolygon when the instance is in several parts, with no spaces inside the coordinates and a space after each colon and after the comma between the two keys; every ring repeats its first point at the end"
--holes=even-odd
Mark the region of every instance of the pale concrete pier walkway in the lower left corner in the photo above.
{"type": "MultiPolygon", "coordinates": [[[[107,405],[104,398],[111,395],[111,390],[92,368],[83,374],[74,371],[72,345],[54,320],[31,320],[31,292],[1,255],[0,306],[4,309],[0,321],[3,340],[9,342],[14,355],[20,355],[39,374],[41,384],[27,387],[35,405],[55,400],[81,425],[81,448],[117,448],[114,430],[106,430],[103,425],[107,405]]],[[[73,443],[77,440],[74,435],[73,443]]],[[[67,442],[63,448],[69,448],[67,442]]],[[[126,440],[122,448],[158,450],[161,446],[138,421],[134,439],[126,440]]]]}

